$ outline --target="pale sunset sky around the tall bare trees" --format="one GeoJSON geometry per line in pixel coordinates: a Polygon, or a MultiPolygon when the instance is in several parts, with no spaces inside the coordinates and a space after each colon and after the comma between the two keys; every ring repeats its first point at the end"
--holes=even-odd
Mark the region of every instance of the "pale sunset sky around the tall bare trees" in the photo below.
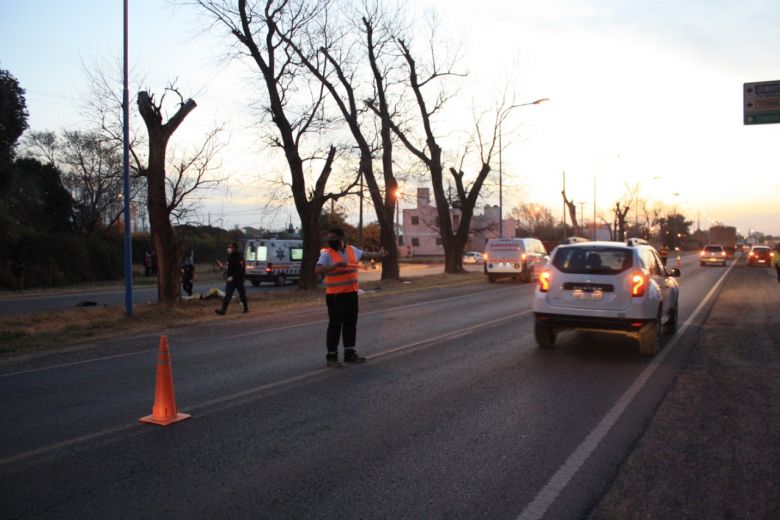
{"type": "MultiPolygon", "coordinates": [[[[550,99],[518,109],[503,128],[505,212],[532,202],[560,218],[565,171],[567,193],[588,218],[595,180],[605,215],[638,185],[643,199],[702,228],[719,221],[780,235],[780,125],[745,126],[742,117],[743,83],[780,81],[777,0],[430,4],[469,73],[439,131],[468,127],[474,107],[489,108],[507,82],[519,101],[550,99]]],[[[246,108],[257,92],[247,86],[252,69],[224,59],[233,42],[204,33],[207,20],[191,7],[130,0],[130,11],[135,74],[153,90],[175,79],[198,102],[174,145],[186,149],[215,123],[229,130],[230,180],[204,201],[201,222],[297,222],[291,206],[267,206],[269,188],[258,181],[284,163],[261,149],[246,108]]],[[[32,129],[85,124],[84,64],[117,63],[121,37],[121,0],[0,0],[0,68],[26,90],[32,129]]],[[[483,204],[497,202],[491,187],[483,204]]]]}

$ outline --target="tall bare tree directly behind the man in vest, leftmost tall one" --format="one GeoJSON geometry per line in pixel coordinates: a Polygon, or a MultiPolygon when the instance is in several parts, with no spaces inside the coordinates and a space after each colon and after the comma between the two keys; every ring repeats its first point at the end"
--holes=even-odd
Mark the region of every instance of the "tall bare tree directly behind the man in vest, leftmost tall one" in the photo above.
{"type": "Polygon", "coordinates": [[[246,0],[238,0],[235,7],[228,1],[198,0],[196,3],[214,17],[215,23],[227,28],[260,71],[268,94],[265,110],[276,129],[270,142],[284,152],[289,185],[301,220],[304,251],[298,283],[302,289],[314,289],[318,284],[314,266],[321,244],[317,224],[322,208],[328,201],[348,195],[359,179],[358,175],[354,182],[338,191],[326,192],[336,157],[334,145],[317,146],[330,123],[324,106],[327,89],[312,87],[310,71],[290,46],[290,42],[298,41],[299,35],[310,29],[329,2],[263,0],[248,4],[246,0]],[[319,170],[313,186],[307,185],[309,167],[319,170]]]}

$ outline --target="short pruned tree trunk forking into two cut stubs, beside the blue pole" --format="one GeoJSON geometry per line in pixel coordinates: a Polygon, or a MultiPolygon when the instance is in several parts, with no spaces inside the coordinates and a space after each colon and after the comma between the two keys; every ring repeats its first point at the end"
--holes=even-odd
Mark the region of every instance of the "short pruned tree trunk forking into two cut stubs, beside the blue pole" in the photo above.
{"type": "MultiPolygon", "coordinates": [[[[178,92],[169,89],[168,92],[178,92]]],[[[138,93],[138,112],[146,124],[149,149],[146,167],[139,166],[142,176],[146,177],[147,208],[151,228],[152,244],[157,254],[157,299],[163,304],[173,304],[181,299],[179,288],[179,247],[171,224],[171,213],[175,208],[166,193],[166,151],[168,141],[179,125],[197,106],[192,99],[184,100],[178,95],[179,103],[172,116],[163,114],[165,95],[159,102],[147,91],[138,93]]],[[[180,199],[179,199],[180,200],[180,199]]]]}

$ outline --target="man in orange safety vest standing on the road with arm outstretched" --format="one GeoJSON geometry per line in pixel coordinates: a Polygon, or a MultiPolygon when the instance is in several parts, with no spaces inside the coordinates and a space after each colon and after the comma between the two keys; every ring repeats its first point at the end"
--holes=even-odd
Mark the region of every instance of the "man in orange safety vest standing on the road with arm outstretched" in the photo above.
{"type": "Polygon", "coordinates": [[[325,302],[328,306],[326,363],[340,368],[338,347],[343,338],[344,362],[363,363],[366,358],[355,351],[358,319],[358,266],[362,258],[384,258],[387,252],[361,251],[344,242],[341,228],[328,230],[328,247],[323,249],[314,272],[325,275],[325,302]]]}

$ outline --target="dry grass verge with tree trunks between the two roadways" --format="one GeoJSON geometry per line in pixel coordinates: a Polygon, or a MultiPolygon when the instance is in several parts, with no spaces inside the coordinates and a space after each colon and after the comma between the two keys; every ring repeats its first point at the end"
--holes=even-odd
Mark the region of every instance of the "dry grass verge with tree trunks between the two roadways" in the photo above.
{"type": "MultiPolygon", "coordinates": [[[[482,273],[436,274],[401,280],[366,282],[361,298],[383,298],[392,294],[425,291],[484,282],[482,273]]],[[[250,309],[262,306],[263,319],[275,313],[323,305],[323,290],[263,291],[251,294],[250,309]]],[[[219,299],[188,300],[174,306],[135,305],[133,316],[125,316],[124,306],[80,307],[61,311],[0,317],[0,357],[54,351],[63,347],[92,343],[106,338],[154,333],[160,330],[224,321],[240,316],[214,314],[219,299]]],[[[251,310],[250,310],[251,312],[251,310]]]]}

